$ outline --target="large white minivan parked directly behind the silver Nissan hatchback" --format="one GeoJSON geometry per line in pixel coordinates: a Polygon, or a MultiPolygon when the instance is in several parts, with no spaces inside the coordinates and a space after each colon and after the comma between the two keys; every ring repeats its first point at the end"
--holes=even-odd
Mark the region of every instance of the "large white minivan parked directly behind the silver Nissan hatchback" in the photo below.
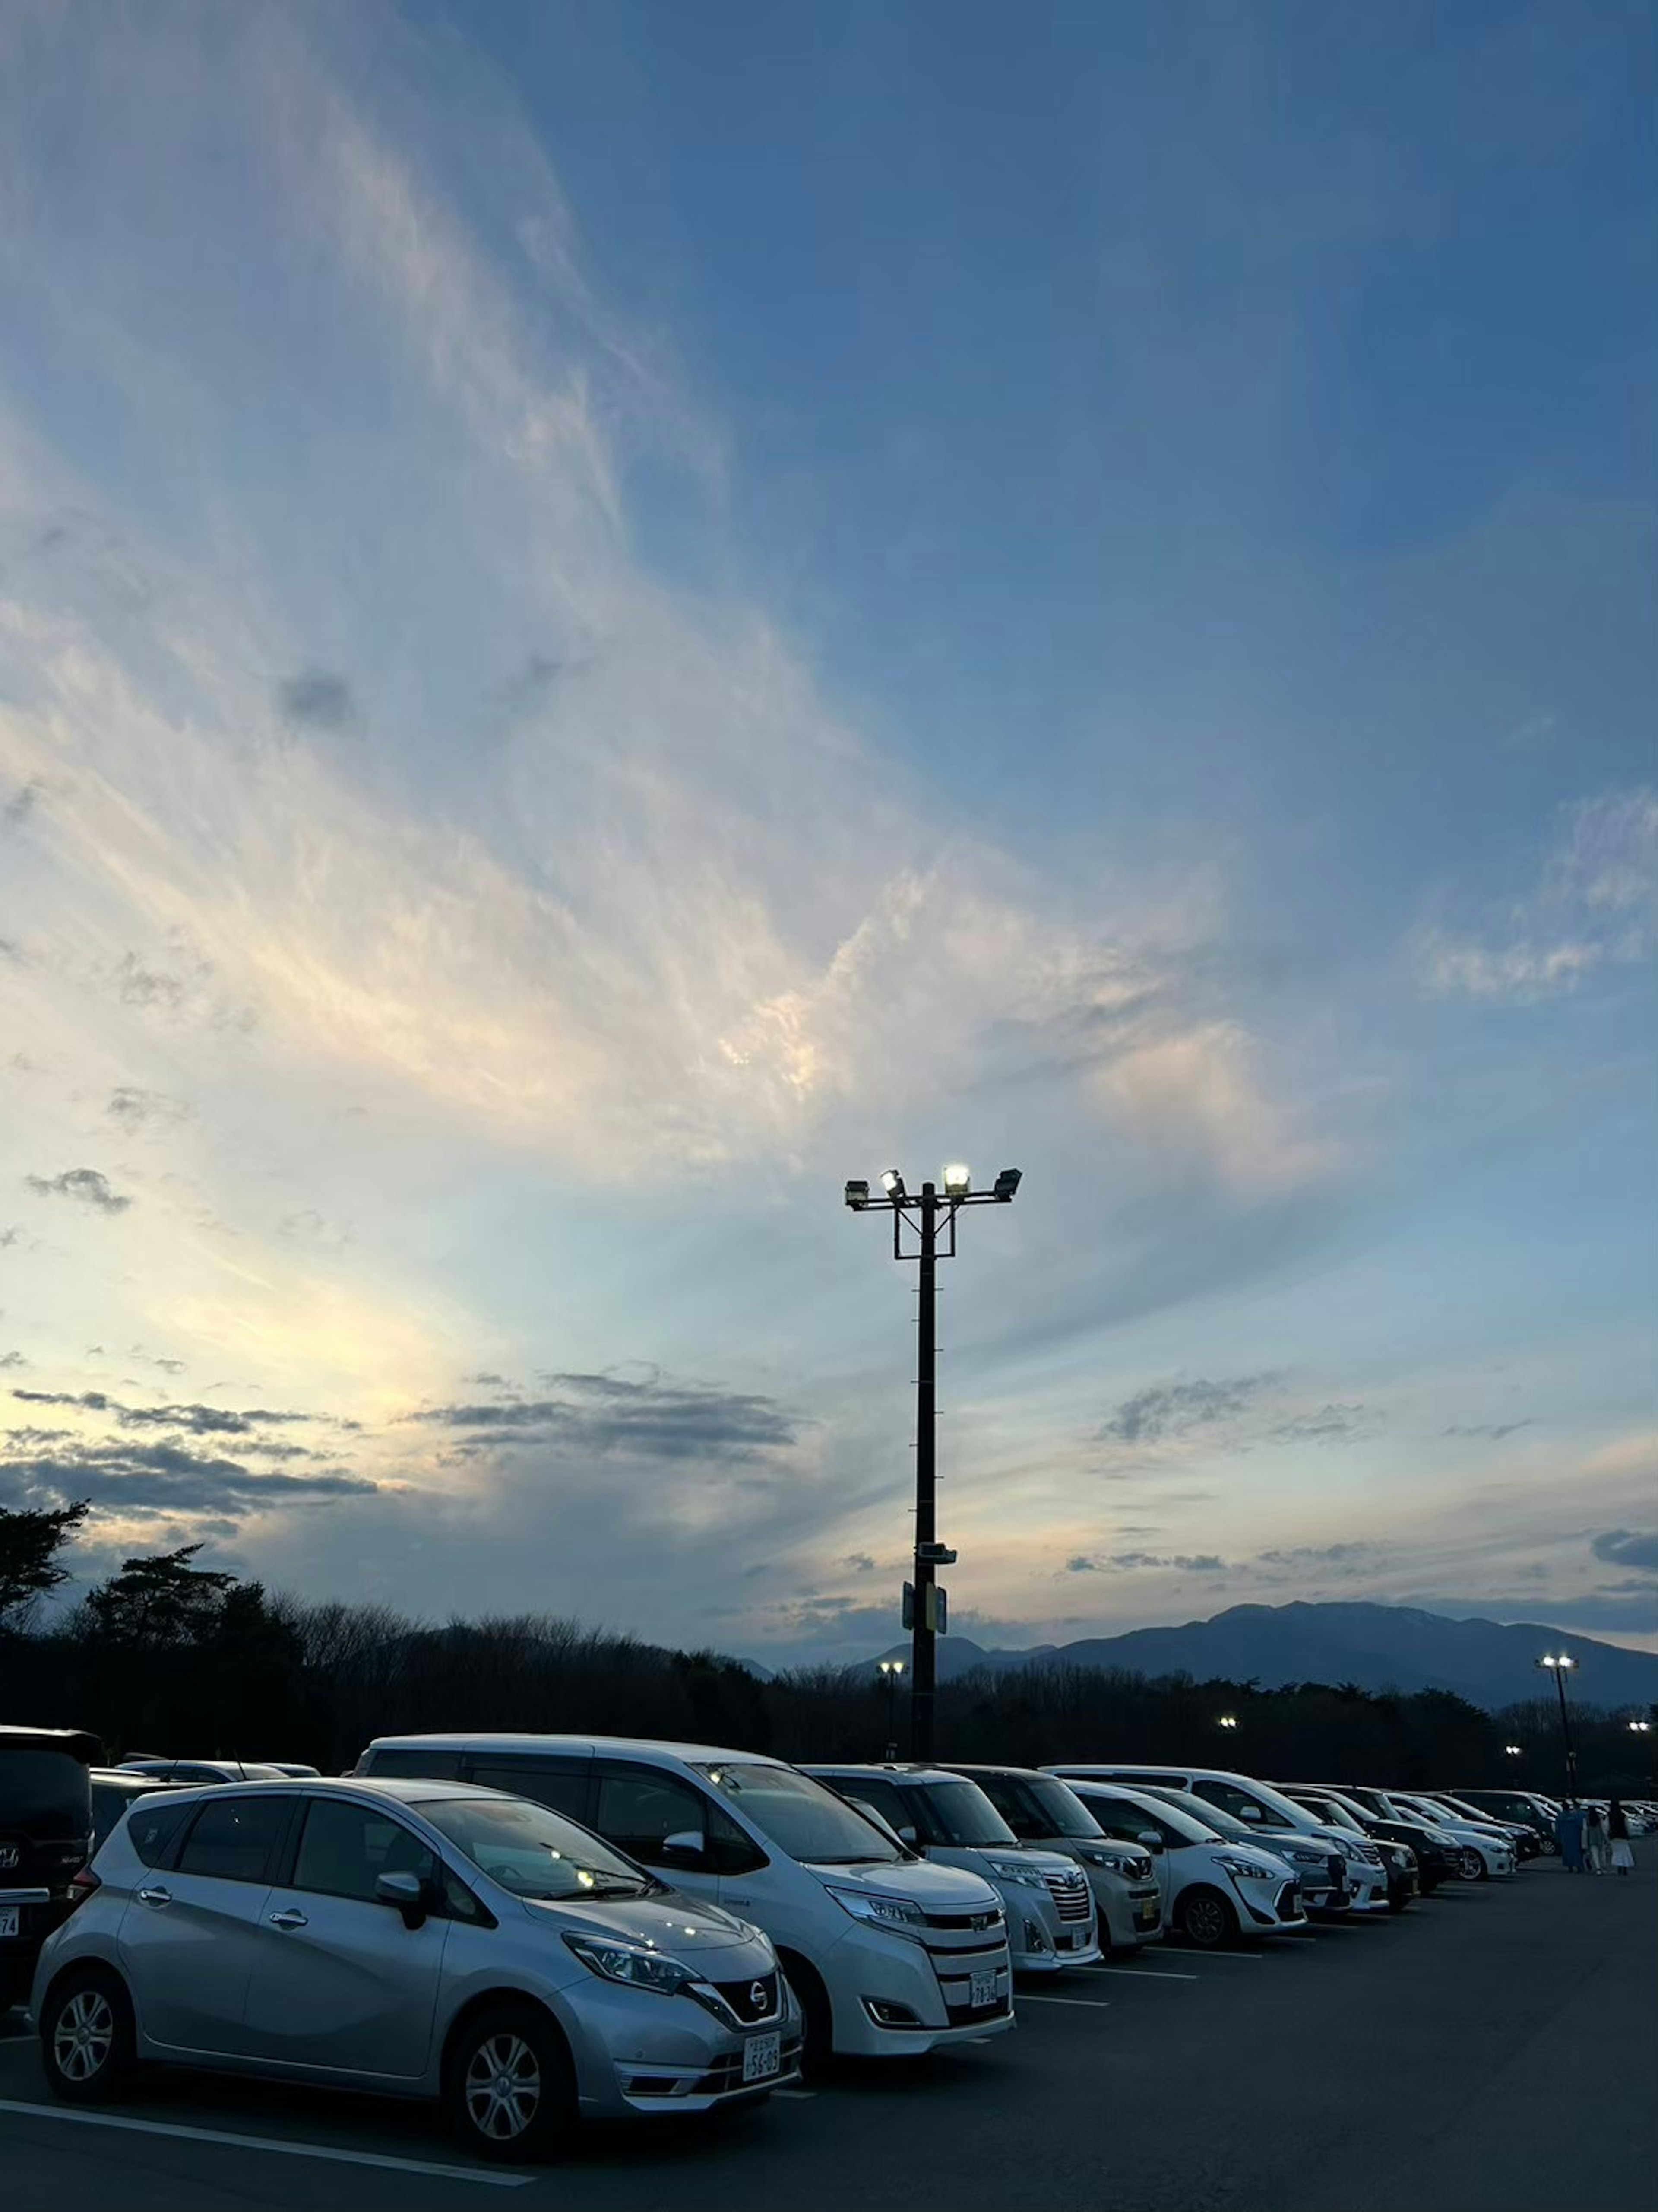
{"type": "Polygon", "coordinates": [[[356,1772],[511,1790],[752,1920],[800,2000],[807,2064],[1012,2026],[995,1889],[920,1858],[783,1759],[630,1736],[376,1736],[356,1772]]]}

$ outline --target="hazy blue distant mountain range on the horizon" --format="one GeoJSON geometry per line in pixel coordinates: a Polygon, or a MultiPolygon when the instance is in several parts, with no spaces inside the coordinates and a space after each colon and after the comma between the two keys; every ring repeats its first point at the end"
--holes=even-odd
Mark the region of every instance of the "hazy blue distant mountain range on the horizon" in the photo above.
{"type": "MultiPolygon", "coordinates": [[[[937,1646],[940,1679],[977,1668],[1006,1672],[1032,1666],[1123,1668],[1130,1674],[1192,1674],[1198,1681],[1357,1683],[1362,1690],[1455,1690],[1475,1705],[1499,1710],[1547,1694],[1539,1652],[1563,1650],[1578,1661],[1572,1697],[1585,1705],[1658,1701],[1658,1652],[1631,1652],[1565,1628],[1521,1621],[1450,1621],[1410,1606],[1229,1606],[1209,1621],[1180,1628],[1132,1628],[1121,1637],[1041,1644],[1035,1650],[984,1650],[966,1637],[937,1646]]],[[[875,1657],[904,1659],[909,1641],[875,1657]]]]}

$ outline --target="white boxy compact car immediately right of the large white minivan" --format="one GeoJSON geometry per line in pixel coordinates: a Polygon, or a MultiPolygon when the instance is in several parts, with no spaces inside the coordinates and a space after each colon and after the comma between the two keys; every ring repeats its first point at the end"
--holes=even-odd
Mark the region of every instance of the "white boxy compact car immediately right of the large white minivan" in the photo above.
{"type": "Polygon", "coordinates": [[[878,1812],[913,1851],[982,1874],[1001,1896],[1015,1973],[1099,1962],[1094,1891],[1074,1858],[1019,1843],[975,1781],[924,1765],[802,1767],[878,1812]]]}

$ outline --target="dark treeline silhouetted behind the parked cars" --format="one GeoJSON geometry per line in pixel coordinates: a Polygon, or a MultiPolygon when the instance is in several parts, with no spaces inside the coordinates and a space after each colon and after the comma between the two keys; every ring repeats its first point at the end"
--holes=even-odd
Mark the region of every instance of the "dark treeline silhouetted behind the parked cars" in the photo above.
{"type": "MultiPolygon", "coordinates": [[[[517,1615],[431,1626],[376,1604],[312,1604],[195,1566],[128,1559],[73,1610],[40,1606],[77,1526],[0,1511],[0,1719],[88,1728],[111,1756],[305,1759],[347,1770],[378,1734],[573,1730],[703,1741],[785,1759],[880,1759],[886,1699],[869,1670],[760,1681],[681,1652],[517,1615]],[[42,1528],[40,1524],[57,1524],[42,1528]],[[55,1542],[53,1542],[55,1540],[55,1542]]],[[[898,1710],[900,1741],[904,1710],[898,1710]]],[[[1583,1787],[1643,1794],[1645,1743],[1618,1717],[1576,1719],[1583,1787]]],[[[1284,1781],[1559,1790],[1547,1703],[1481,1712],[1444,1690],[1158,1681],[1037,1666],[940,1688],[948,1759],[1203,1761],[1284,1781]],[[1236,1719],[1234,1730],[1218,1725],[1236,1719]],[[1519,1756],[1505,1750],[1517,1743],[1519,1756]]]]}

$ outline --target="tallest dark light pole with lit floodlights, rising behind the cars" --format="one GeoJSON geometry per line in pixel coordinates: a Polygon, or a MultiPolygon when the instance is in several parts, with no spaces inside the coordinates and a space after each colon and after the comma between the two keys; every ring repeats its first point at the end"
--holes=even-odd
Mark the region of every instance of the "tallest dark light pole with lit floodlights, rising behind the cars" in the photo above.
{"type": "Polygon", "coordinates": [[[955,1259],[955,1217],[964,1206],[1008,1206],[1019,1188],[1019,1168],[1004,1168],[990,1190],[975,1190],[962,1166],[944,1168],[940,1183],[922,1183],[911,1197],[898,1168],[889,1168],[871,1199],[869,1183],[847,1183],[847,1206],[856,1214],[893,1217],[893,1259],[917,1261],[915,1312],[915,1582],[906,1584],[911,1630],[909,1666],[909,1754],[933,1756],[933,1697],[937,1686],[937,1637],[944,1624],[944,1590],[937,1568],[953,1566],[955,1553],[937,1540],[937,1460],[933,1416],[937,1411],[935,1294],[940,1259],[955,1259]],[[909,1228],[909,1237],[904,1230],[909,1228]],[[944,1243],[940,1248],[940,1230],[944,1243]]]}

